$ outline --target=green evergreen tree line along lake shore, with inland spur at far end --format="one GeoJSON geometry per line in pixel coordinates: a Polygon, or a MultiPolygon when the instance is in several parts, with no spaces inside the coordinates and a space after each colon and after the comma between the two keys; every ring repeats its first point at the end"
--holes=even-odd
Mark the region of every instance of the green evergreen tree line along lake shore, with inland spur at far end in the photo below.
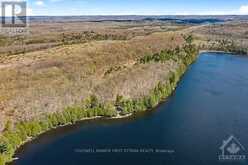
{"type": "Polygon", "coordinates": [[[139,60],[140,63],[148,63],[172,59],[179,64],[176,71],[170,72],[169,79],[158,83],[148,96],[140,99],[126,99],[118,95],[114,102],[102,103],[97,96],[93,95],[79,105],[67,107],[62,112],[49,114],[41,119],[22,121],[16,123],[15,126],[7,122],[4,132],[0,135],[0,165],[11,161],[16,149],[28,139],[53,128],[73,124],[86,118],[115,117],[154,108],[161,100],[171,95],[187,66],[196,59],[198,50],[192,44],[192,40],[192,36],[185,36],[186,42],[182,48],[164,50],[139,60]]]}

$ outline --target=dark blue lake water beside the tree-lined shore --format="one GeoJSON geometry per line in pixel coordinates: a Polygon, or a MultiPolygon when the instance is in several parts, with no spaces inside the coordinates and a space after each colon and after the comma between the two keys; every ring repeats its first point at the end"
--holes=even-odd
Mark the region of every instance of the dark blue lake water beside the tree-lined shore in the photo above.
{"type": "Polygon", "coordinates": [[[14,164],[248,164],[218,160],[219,148],[230,135],[247,155],[248,58],[202,53],[157,110],[50,131],[22,147],[14,164]]]}

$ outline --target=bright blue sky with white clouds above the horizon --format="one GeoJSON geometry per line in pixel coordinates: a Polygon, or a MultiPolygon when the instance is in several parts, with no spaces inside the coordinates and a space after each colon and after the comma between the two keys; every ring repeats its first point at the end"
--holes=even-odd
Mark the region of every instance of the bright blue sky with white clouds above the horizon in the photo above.
{"type": "Polygon", "coordinates": [[[248,0],[27,0],[27,3],[28,15],[36,16],[248,14],[248,0]]]}

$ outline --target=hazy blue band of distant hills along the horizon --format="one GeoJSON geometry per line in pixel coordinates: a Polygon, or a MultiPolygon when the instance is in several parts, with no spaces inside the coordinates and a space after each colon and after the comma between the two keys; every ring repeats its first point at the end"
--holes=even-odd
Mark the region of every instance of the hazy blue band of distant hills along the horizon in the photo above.
{"type": "Polygon", "coordinates": [[[226,21],[247,21],[246,15],[226,16],[30,16],[31,22],[132,22],[132,21],[162,21],[180,24],[221,23],[226,21]]]}

